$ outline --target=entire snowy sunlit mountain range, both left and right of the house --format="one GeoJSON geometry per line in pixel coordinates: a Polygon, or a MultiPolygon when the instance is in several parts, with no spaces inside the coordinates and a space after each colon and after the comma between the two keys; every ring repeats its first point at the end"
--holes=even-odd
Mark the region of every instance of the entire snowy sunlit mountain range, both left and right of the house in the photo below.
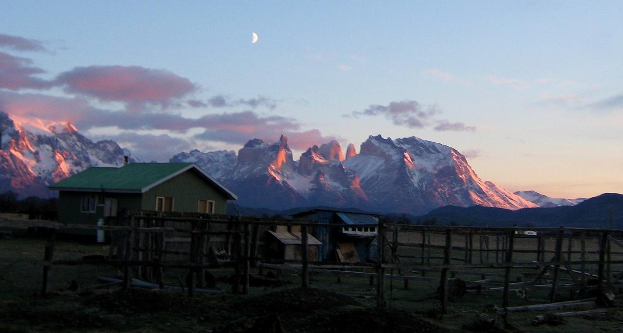
{"type": "MultiPolygon", "coordinates": [[[[54,195],[47,185],[90,166],[121,166],[128,150],[93,142],[70,123],[42,123],[0,112],[0,192],[54,195]]],[[[194,162],[254,209],[342,207],[421,215],[437,207],[481,205],[523,209],[574,204],[536,192],[512,192],[480,179],[454,148],[412,136],[369,136],[359,152],[337,141],[312,146],[293,159],[285,136],[249,140],[234,151],[181,152],[171,162],[194,162]]],[[[581,200],[581,199],[574,199],[581,200]]]]}

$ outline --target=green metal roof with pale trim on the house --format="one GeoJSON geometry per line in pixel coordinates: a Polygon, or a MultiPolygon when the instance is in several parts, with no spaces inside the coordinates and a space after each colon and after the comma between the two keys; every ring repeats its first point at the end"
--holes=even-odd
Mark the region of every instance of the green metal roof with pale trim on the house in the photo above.
{"type": "Polygon", "coordinates": [[[50,185],[49,188],[51,190],[145,193],[152,187],[193,168],[207,181],[225,192],[227,197],[237,199],[229,189],[193,163],[130,163],[123,167],[90,167],[50,185]]]}

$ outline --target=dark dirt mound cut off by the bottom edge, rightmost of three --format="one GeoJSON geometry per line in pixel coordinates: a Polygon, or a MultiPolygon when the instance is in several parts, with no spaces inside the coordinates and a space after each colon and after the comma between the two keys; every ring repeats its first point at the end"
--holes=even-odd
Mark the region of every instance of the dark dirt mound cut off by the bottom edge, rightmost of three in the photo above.
{"type": "Polygon", "coordinates": [[[309,332],[445,332],[410,312],[396,309],[370,308],[338,312],[321,317],[315,323],[309,332]]]}

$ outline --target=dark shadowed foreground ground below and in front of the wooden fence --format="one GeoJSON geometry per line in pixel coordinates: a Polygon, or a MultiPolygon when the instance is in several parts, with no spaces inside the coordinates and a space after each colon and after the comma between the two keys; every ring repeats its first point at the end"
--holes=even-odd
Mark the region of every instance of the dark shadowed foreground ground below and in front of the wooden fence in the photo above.
{"type": "MultiPolygon", "coordinates": [[[[40,297],[42,267],[37,264],[44,245],[44,240],[28,238],[0,240],[0,332],[503,332],[491,325],[495,313],[487,311],[500,304],[501,293],[467,293],[453,299],[449,313],[441,318],[439,300],[431,297],[438,286],[436,278],[411,281],[409,288],[397,276],[389,279],[388,309],[379,310],[375,308],[376,285],[369,284],[367,277],[338,279],[335,273],[313,273],[312,288],[303,290],[297,288],[300,275],[284,271],[282,282],[252,286],[250,295],[242,296],[229,293],[231,270],[213,270],[217,288],[224,293],[188,298],[183,293],[146,289],[94,294],[98,276],[114,277],[118,271],[104,266],[54,266],[50,275],[53,293],[44,299],[40,297]],[[67,292],[72,280],[80,284],[77,293],[67,292]]],[[[103,245],[59,242],[55,257],[75,259],[107,251],[103,245]]],[[[167,284],[184,281],[186,273],[167,271],[167,284]]],[[[473,279],[463,274],[457,276],[473,279]]],[[[491,279],[500,277],[492,275],[491,279]]],[[[536,289],[530,298],[547,299],[548,293],[536,289]]],[[[559,299],[569,299],[568,293],[561,291],[559,299]]],[[[512,306],[533,304],[514,293],[510,301],[512,306]]],[[[507,331],[623,332],[623,311],[618,308],[609,309],[606,317],[574,317],[557,326],[530,326],[537,314],[541,313],[513,313],[509,320],[516,329],[507,331]]]]}

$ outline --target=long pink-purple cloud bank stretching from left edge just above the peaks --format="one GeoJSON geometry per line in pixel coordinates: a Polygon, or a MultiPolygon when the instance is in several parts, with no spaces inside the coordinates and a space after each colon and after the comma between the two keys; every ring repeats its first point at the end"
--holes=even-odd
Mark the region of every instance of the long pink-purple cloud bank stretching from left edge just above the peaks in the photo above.
{"type": "MultiPolygon", "coordinates": [[[[294,149],[307,149],[313,144],[326,143],[333,136],[323,136],[318,129],[302,131],[302,125],[293,118],[283,116],[261,116],[254,111],[234,113],[213,113],[200,118],[186,118],[170,113],[131,113],[125,110],[110,111],[93,108],[87,99],[63,98],[36,93],[13,93],[0,91],[0,110],[9,115],[39,118],[48,121],[70,121],[78,130],[116,126],[122,130],[159,129],[184,133],[188,129],[202,128],[204,132],[189,139],[202,139],[224,143],[244,144],[252,138],[277,139],[281,134],[292,138],[294,149]]],[[[149,136],[124,134],[124,142],[136,141],[146,156],[153,146],[148,144],[149,136]]],[[[158,136],[158,141],[166,136],[158,136]]],[[[177,140],[176,146],[182,141],[177,140]]],[[[158,149],[152,149],[154,156],[160,156],[158,149]]]]}

